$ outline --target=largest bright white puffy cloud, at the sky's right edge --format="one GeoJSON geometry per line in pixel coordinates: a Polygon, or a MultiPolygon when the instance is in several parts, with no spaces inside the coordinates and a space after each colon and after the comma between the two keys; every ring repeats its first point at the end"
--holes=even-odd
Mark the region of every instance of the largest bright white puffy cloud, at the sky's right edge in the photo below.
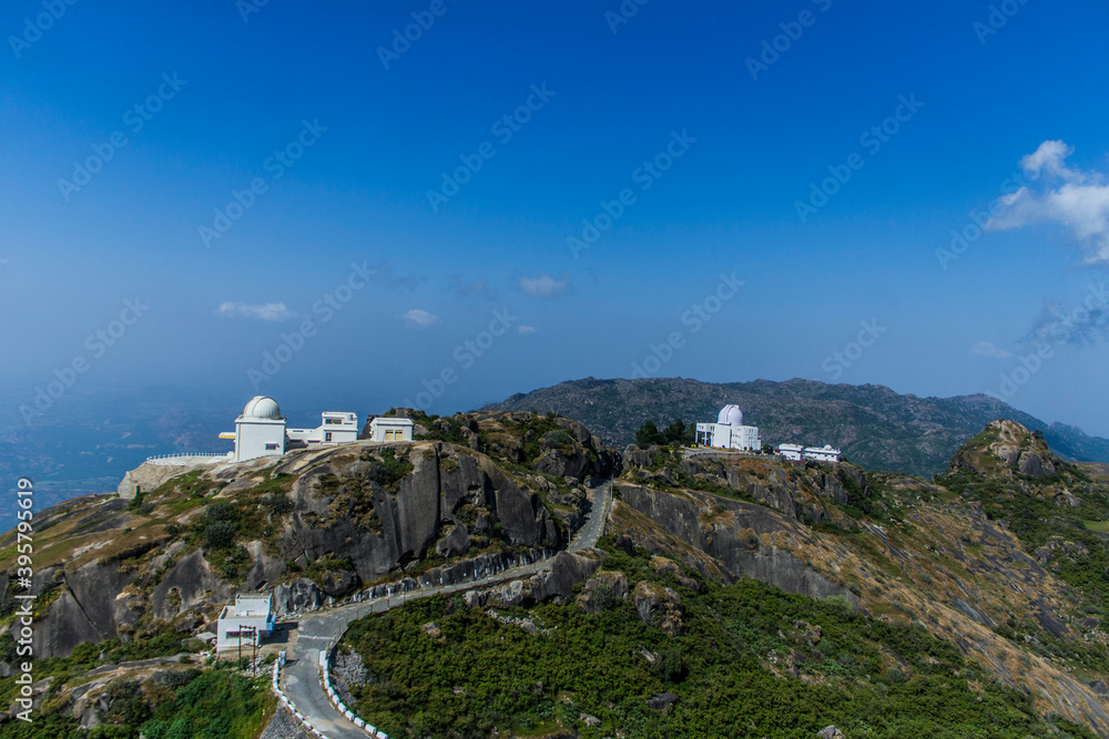
{"type": "Polygon", "coordinates": [[[989,230],[1008,230],[1037,223],[1066,226],[1078,240],[1088,265],[1109,264],[1109,185],[1098,172],[1070,170],[1074,150],[1061,141],[1045,141],[1020,160],[1030,179],[1051,179],[1034,189],[1024,186],[998,199],[989,230]]]}

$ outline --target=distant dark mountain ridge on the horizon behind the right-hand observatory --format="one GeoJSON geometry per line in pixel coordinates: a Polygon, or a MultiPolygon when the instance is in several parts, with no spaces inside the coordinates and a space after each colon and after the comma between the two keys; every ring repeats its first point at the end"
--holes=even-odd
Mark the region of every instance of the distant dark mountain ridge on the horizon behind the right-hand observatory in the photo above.
{"type": "Polygon", "coordinates": [[[985,394],[918,398],[879,384],[785,382],[710,383],[683,378],[561,382],[517,393],[482,410],[561,413],[580,421],[609,444],[623,447],[642,423],[675,418],[713,421],[726,403],[760,427],[763,441],[838,447],[847,459],[872,470],[930,476],[947,468],[959,447],[996,419],[1041,431],[1051,449],[1071,461],[1109,462],[1109,439],[1081,429],[1048,424],[985,394]]]}

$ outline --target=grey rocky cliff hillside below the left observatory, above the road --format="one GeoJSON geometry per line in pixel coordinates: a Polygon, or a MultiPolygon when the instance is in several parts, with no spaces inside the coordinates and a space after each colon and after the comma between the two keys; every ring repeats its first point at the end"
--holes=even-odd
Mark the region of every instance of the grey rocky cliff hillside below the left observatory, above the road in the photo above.
{"type": "MultiPolygon", "coordinates": [[[[138,638],[159,624],[187,636],[240,592],[272,588],[278,607],[294,610],[429,564],[557,548],[580,524],[581,479],[611,469],[612,452],[564,419],[570,439],[545,441],[549,430],[529,437],[530,414],[492,415],[470,421],[494,437],[494,454],[531,454],[533,473],[469,443],[357,442],[205,468],[132,501],[88,496],[43,512],[35,655],[138,638]]],[[[0,606],[10,610],[7,591],[0,575],[0,606]]]]}

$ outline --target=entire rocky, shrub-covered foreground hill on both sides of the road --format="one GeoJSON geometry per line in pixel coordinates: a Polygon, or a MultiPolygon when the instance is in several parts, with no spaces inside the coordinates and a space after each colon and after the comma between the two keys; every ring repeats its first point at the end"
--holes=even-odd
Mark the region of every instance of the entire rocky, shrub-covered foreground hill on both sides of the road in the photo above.
{"type": "MultiPolygon", "coordinates": [[[[411,417],[413,443],[212,466],[131,501],[88,496],[42,514],[34,636],[58,671],[35,688],[39,705],[58,721],[111,720],[124,679],[111,664],[175,654],[238,592],[272,591],[291,613],[560,548],[581,525],[587,485],[612,478],[599,548],[358,622],[340,663],[377,677],[344,685],[350,701],[398,736],[440,736],[428,707],[452,706],[451,731],[477,710],[458,736],[542,726],[600,737],[632,720],[671,732],[691,716],[734,723],[725,707],[762,686],[792,696],[782,700],[812,733],[831,712],[854,736],[865,721],[852,706],[868,706],[872,727],[905,711],[889,726],[1109,737],[1109,476],[1062,459],[1045,434],[989,422],[924,480],[773,455],[618,453],[577,421],[521,411],[411,417]],[[441,661],[457,654],[474,659],[441,661]],[[513,682],[502,660],[532,657],[553,661],[513,682]],[[425,658],[452,676],[419,677],[425,658]],[[587,685],[597,660],[614,670],[603,688],[587,685]],[[619,694],[625,680],[645,697],[619,694]],[[490,718],[475,695],[520,712],[490,718]],[[922,714],[922,695],[947,714],[922,714]]],[[[0,538],[9,572],[12,544],[0,538]]],[[[13,655],[11,589],[0,579],[0,671],[13,655]]],[[[747,708],[770,722],[757,736],[779,736],[767,727],[781,711],[747,708]]]]}

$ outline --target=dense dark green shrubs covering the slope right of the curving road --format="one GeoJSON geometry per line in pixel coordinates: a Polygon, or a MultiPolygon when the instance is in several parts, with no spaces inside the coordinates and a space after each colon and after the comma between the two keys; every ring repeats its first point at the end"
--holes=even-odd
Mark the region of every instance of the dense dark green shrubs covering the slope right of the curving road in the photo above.
{"type": "Polygon", "coordinates": [[[348,632],[344,644],[369,675],[355,689],[357,710],[397,737],[561,726],[587,738],[811,739],[828,723],[853,739],[1093,736],[1041,720],[1029,696],[994,685],[953,644],[857,615],[842,598],[816,602],[751,579],[699,581],[694,592],[654,574],[644,556],[612,550],[603,566],[632,587],[650,579],[678,591],[684,635],[645,625],[615,597],[597,616],[574,604],[508,612],[545,629],[535,635],[457,597],[418,601],[348,632]],[[429,623],[441,636],[423,628],[429,623]],[[648,704],[661,692],[678,697],[668,710],[648,704]]]}

